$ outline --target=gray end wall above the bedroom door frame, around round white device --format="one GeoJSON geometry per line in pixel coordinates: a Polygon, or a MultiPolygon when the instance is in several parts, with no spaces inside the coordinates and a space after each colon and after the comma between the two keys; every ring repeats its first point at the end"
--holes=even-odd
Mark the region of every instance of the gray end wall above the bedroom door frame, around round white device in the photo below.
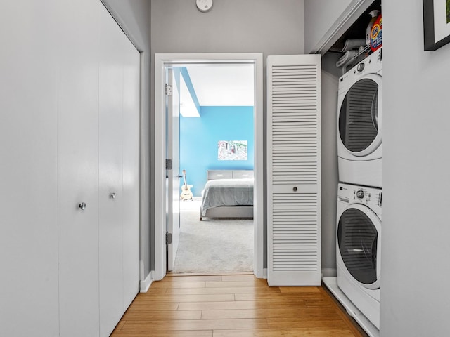
{"type": "Polygon", "coordinates": [[[303,0],[216,0],[208,13],[195,1],[152,0],[151,6],[152,55],[303,53],[303,0]]]}

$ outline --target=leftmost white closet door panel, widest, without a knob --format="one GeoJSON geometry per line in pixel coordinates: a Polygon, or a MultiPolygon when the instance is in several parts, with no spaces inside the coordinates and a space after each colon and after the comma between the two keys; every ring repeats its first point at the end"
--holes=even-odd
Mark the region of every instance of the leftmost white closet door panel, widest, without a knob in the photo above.
{"type": "Polygon", "coordinates": [[[59,333],[57,4],[1,4],[1,336],[59,333]]]}

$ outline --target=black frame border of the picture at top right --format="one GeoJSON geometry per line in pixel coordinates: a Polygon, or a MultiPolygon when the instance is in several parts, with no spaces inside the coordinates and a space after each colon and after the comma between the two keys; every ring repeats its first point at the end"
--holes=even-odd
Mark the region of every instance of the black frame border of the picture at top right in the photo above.
{"type": "MultiPolygon", "coordinates": [[[[438,48],[448,44],[450,42],[450,35],[447,35],[439,41],[435,41],[435,30],[437,25],[441,24],[441,20],[448,19],[450,11],[450,1],[449,0],[423,0],[423,42],[425,51],[435,51],[438,48]],[[437,1],[446,1],[447,13],[442,13],[442,19],[439,22],[435,20],[435,3],[437,1]]],[[[446,22],[444,22],[446,24],[446,22]]]]}

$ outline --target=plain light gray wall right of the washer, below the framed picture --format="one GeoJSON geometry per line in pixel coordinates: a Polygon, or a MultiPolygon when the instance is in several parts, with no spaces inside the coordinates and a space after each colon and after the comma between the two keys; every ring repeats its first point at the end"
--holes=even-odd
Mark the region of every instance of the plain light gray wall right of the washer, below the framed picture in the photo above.
{"type": "Polygon", "coordinates": [[[423,51],[422,6],[383,2],[385,337],[450,336],[450,45],[423,51]]]}

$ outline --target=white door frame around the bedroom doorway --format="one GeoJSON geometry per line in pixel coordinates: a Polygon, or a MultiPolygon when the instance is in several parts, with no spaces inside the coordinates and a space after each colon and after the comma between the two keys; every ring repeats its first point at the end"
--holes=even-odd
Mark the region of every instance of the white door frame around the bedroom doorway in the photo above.
{"type": "Polygon", "coordinates": [[[155,54],[155,270],[153,279],[166,275],[165,220],[165,67],[210,64],[252,64],[255,70],[255,265],[257,278],[264,278],[264,107],[262,53],[170,53],[155,54]]]}

